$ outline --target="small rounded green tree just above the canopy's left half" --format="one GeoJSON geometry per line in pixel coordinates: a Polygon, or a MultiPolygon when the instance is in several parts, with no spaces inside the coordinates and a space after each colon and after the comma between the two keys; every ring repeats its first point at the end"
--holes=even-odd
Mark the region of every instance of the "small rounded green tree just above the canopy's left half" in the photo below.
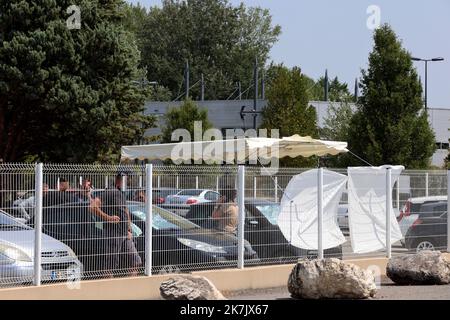
{"type": "Polygon", "coordinates": [[[179,107],[169,108],[165,115],[162,142],[173,143],[172,133],[177,129],[186,129],[193,140],[195,121],[201,121],[202,135],[206,130],[212,128],[212,124],[208,120],[208,111],[199,108],[192,100],[184,101],[179,107]]]}

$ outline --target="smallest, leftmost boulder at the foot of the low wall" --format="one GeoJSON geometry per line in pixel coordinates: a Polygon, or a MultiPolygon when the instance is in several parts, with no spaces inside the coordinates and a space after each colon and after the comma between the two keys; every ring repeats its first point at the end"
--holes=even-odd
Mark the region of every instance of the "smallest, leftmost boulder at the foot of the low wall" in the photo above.
{"type": "Polygon", "coordinates": [[[166,300],[225,300],[211,281],[200,276],[174,276],[162,282],[159,291],[166,300]]]}

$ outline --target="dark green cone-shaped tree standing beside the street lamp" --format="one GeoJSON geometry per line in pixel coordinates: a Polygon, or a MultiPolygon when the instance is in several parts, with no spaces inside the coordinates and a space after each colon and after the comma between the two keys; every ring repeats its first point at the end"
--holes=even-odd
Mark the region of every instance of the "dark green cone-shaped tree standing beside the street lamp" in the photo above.
{"type": "Polygon", "coordinates": [[[373,165],[427,168],[435,139],[423,110],[422,87],[411,55],[389,25],[374,32],[374,48],[360,88],[349,148],[373,165]]]}

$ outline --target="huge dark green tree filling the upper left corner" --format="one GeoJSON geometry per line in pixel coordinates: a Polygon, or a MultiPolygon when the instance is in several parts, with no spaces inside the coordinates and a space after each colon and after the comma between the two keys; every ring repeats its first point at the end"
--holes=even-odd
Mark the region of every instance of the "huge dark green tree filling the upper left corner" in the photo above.
{"type": "Polygon", "coordinates": [[[0,157],[110,162],[142,137],[145,90],[121,0],[0,0],[0,157]]]}

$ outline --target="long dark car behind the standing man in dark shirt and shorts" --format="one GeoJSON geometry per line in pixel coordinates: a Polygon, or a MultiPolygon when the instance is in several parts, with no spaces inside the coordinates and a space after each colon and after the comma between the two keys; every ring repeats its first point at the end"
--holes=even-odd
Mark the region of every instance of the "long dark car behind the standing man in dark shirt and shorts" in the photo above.
{"type": "MultiPolygon", "coordinates": [[[[145,204],[127,201],[136,249],[145,261],[145,204]]],[[[43,229],[70,246],[85,265],[86,276],[96,276],[104,259],[107,238],[103,223],[88,203],[64,203],[44,209],[43,229]]],[[[156,272],[196,270],[236,264],[237,238],[202,229],[192,222],[153,206],[152,261],[156,272]]],[[[248,246],[247,249],[250,249],[248,246]]],[[[245,259],[257,259],[246,250],[245,259]]]]}

